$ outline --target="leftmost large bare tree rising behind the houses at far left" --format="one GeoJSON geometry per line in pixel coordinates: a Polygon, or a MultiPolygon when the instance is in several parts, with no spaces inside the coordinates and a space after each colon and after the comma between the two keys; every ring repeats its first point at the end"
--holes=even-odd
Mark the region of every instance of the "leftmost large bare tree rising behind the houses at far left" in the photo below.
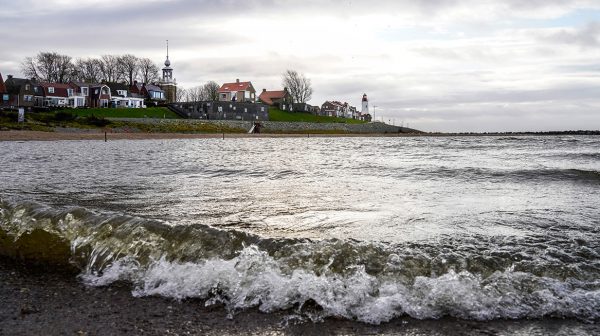
{"type": "Polygon", "coordinates": [[[73,74],[71,56],[57,52],[40,52],[35,57],[27,57],[21,63],[21,71],[29,78],[46,82],[65,83],[73,74]]]}

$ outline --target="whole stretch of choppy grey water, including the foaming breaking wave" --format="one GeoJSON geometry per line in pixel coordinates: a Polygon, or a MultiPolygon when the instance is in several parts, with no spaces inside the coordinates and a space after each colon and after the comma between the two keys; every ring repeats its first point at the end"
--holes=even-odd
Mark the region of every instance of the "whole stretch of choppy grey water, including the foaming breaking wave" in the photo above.
{"type": "Polygon", "coordinates": [[[0,252],[312,319],[600,318],[600,137],[0,142],[0,252]]]}

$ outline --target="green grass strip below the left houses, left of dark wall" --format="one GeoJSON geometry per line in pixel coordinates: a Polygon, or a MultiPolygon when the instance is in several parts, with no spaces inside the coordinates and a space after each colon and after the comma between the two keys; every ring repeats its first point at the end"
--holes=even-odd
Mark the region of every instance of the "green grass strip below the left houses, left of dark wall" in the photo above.
{"type": "Polygon", "coordinates": [[[99,118],[166,118],[179,119],[180,117],[166,107],[148,108],[90,108],[64,110],[78,117],[94,115],[99,118]]]}

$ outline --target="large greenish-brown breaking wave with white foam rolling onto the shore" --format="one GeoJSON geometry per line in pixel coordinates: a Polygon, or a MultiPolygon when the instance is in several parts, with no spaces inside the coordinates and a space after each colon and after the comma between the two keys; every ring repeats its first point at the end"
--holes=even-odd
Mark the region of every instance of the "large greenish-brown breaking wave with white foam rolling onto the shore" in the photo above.
{"type": "Polygon", "coordinates": [[[403,315],[598,320],[600,263],[591,239],[553,247],[505,238],[401,246],[269,239],[0,201],[0,254],[71,265],[91,286],[125,281],[136,296],[200,298],[231,314],[258,307],[373,324],[403,315]]]}

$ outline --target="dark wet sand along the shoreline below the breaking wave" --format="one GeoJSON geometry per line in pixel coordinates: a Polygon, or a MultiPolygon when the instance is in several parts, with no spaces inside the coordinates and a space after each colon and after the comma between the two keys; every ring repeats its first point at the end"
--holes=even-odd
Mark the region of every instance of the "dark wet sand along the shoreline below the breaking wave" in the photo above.
{"type": "Polygon", "coordinates": [[[93,288],[74,274],[32,269],[0,257],[0,335],[598,335],[576,320],[475,322],[398,318],[379,326],[302,322],[292,312],[238,312],[201,300],[135,298],[127,284],[93,288]]]}

